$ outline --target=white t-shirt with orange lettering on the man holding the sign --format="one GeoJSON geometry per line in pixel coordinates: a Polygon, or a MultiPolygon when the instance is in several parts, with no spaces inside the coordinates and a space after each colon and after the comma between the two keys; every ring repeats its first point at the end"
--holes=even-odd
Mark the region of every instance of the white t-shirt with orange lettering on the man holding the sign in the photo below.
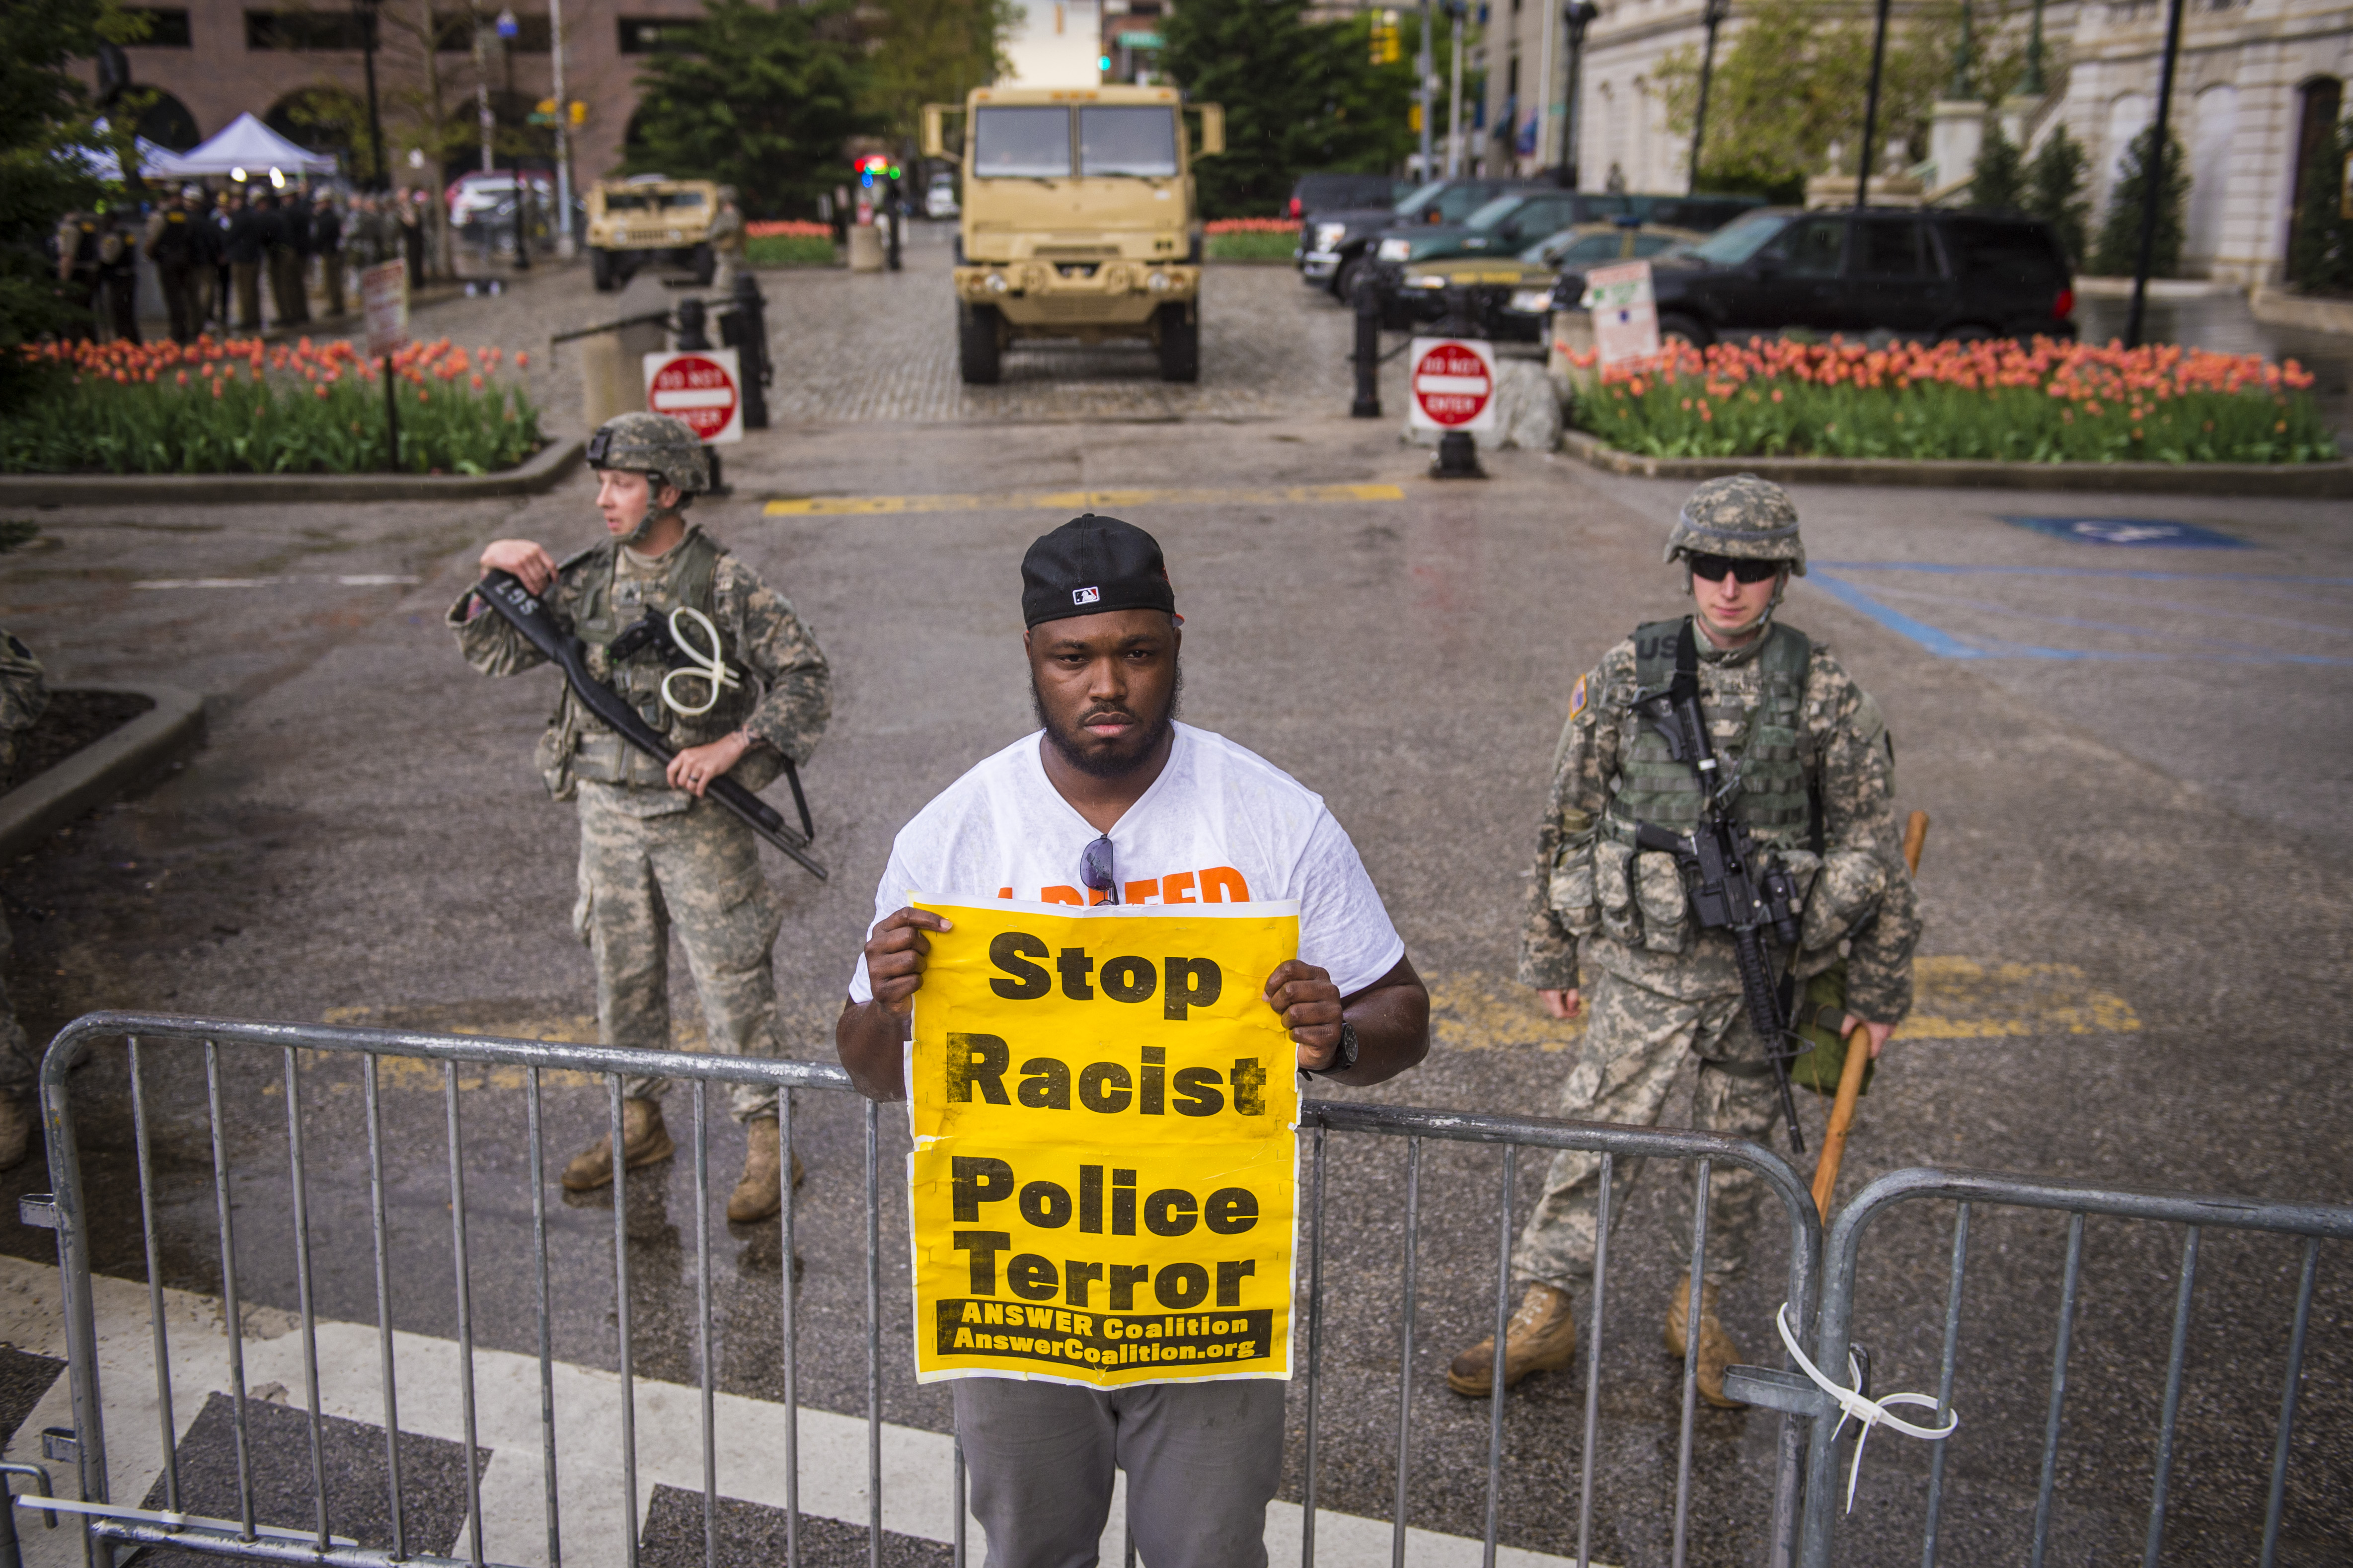
{"type": "MultiPolygon", "coordinates": [[[[1028,733],[981,759],[899,830],[882,884],[880,926],[908,893],[939,900],[1024,898],[1085,905],[1078,860],[1099,835],[1045,776],[1028,733]]],[[[1111,827],[1120,903],[1299,900],[1299,957],[1341,997],[1405,957],[1381,893],[1322,797],[1252,750],[1191,724],[1153,788],[1111,827]]],[[[866,957],[849,999],[873,1001],[866,957]]]]}

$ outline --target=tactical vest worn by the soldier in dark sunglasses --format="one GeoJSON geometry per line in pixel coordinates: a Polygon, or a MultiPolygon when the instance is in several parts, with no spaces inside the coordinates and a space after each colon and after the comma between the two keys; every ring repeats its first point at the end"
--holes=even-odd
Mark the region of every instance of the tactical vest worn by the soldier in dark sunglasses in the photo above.
{"type": "MultiPolygon", "coordinates": [[[[1675,679],[1675,644],[1687,623],[1689,618],[1652,621],[1635,628],[1635,686],[1645,696],[1675,679]]],[[[1812,639],[1777,621],[1755,656],[1755,708],[1722,703],[1713,693],[1701,701],[1715,755],[1739,766],[1739,818],[1774,844],[1798,844],[1812,823],[1802,750],[1805,668],[1812,656],[1812,639]]],[[[1699,816],[1699,769],[1675,762],[1654,724],[1638,724],[1633,743],[1619,755],[1619,790],[1602,813],[1602,830],[1633,844],[1635,823],[1689,832],[1699,816]]]]}

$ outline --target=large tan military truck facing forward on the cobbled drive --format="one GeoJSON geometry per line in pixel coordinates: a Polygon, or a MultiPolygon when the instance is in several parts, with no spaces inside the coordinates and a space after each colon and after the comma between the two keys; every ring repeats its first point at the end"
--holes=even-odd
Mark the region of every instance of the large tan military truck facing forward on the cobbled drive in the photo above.
{"type": "MultiPolygon", "coordinates": [[[[948,158],[953,103],[922,146],[948,158]]],[[[1019,339],[1146,339],[1162,381],[1200,378],[1200,205],[1193,160],[1226,150],[1226,113],[1174,87],[976,87],[965,118],[955,336],[991,386],[1019,339]],[[1200,115],[1198,143],[1186,113],[1200,115]]]]}

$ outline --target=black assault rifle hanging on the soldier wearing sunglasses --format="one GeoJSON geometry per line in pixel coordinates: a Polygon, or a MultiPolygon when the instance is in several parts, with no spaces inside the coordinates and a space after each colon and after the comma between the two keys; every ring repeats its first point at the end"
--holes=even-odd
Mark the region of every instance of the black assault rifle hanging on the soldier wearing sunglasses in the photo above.
{"type": "Polygon", "coordinates": [[[1748,1023],[1772,1060],[1774,1086],[1781,1091],[1781,1117],[1788,1121],[1788,1147],[1805,1154],[1798,1098],[1788,1088],[1788,1063],[1798,1051],[1788,1048],[1788,1006],[1765,954],[1765,931],[1769,929],[1795,959],[1798,886],[1788,870],[1758,849],[1748,825],[1734,811],[1741,797],[1741,776],[1737,766],[1725,766],[1715,757],[1715,743],[1708,738],[1708,717],[1699,708],[1699,651],[1689,621],[1682,623],[1682,639],[1675,646],[1675,679],[1657,696],[1635,698],[1635,710],[1666,738],[1666,750],[1675,762],[1692,764],[1701,792],[1699,827],[1682,835],[1657,823],[1640,823],[1635,825],[1635,844],[1675,856],[1692,893],[1692,914],[1701,929],[1732,933],[1732,954],[1741,971],[1741,1001],[1748,1006],[1748,1023]]]}

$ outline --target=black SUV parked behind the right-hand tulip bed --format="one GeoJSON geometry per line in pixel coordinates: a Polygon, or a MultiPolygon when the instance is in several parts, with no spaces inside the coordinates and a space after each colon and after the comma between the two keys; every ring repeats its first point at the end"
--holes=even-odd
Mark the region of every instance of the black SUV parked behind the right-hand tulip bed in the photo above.
{"type": "MultiPolygon", "coordinates": [[[[2073,339],[2059,235],[1991,212],[1762,209],[1649,263],[1661,336],[1697,346],[1788,327],[1849,339],[2073,339]]],[[[1555,308],[1574,308],[1562,273],[1555,308]]]]}

